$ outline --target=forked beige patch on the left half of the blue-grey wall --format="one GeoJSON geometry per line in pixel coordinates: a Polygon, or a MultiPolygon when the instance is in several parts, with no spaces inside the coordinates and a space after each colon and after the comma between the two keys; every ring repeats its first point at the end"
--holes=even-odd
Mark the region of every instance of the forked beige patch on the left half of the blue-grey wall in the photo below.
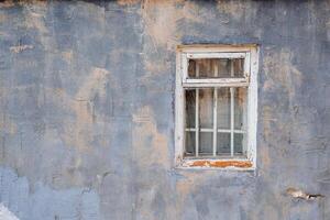
{"type": "Polygon", "coordinates": [[[66,145],[82,151],[91,148],[90,143],[97,128],[92,112],[92,98],[96,95],[100,99],[106,98],[108,77],[110,77],[110,73],[107,69],[92,67],[74,97],[64,89],[47,89],[50,102],[76,116],[74,120],[64,122],[64,132],[61,133],[61,139],[66,145]]]}

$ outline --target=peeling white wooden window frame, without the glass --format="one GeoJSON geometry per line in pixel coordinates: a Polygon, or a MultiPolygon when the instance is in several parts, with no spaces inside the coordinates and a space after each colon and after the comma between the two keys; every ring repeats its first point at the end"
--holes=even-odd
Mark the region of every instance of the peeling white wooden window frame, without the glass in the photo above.
{"type": "Polygon", "coordinates": [[[254,170],[256,167],[258,48],[249,45],[179,45],[176,53],[175,166],[177,168],[217,168],[254,170]],[[189,79],[189,58],[244,58],[244,77],[189,79]],[[185,88],[248,87],[246,157],[190,158],[185,153],[185,88]]]}

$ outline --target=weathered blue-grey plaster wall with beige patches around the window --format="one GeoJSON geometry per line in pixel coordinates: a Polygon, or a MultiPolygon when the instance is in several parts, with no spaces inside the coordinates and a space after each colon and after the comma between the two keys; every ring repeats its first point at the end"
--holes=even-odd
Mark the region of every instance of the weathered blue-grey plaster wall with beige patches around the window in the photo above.
{"type": "Polygon", "coordinates": [[[329,14],[321,0],[0,2],[0,202],[21,220],[330,219],[329,14]],[[255,173],[173,168],[175,47],[193,43],[261,46],[255,173]]]}

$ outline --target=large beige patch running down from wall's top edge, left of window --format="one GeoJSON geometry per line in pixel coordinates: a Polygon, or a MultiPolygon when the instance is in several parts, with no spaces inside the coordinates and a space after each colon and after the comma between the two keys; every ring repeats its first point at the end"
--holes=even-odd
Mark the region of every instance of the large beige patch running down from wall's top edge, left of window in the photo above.
{"type": "MultiPolygon", "coordinates": [[[[158,48],[175,51],[176,45],[180,44],[183,35],[178,26],[179,21],[201,23],[199,9],[196,3],[188,1],[156,1],[146,0],[142,3],[142,19],[144,32],[147,36],[144,45],[144,69],[145,74],[139,82],[147,87],[150,91],[168,91],[168,87],[157,84],[155,76],[169,73],[172,63],[165,58],[157,58],[158,48]]],[[[166,54],[164,54],[166,57],[166,54]]]]}

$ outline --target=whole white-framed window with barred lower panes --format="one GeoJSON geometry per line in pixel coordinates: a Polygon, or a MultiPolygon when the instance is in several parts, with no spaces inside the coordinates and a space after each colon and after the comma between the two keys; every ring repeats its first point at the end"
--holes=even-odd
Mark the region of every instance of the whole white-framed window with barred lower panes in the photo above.
{"type": "Polygon", "coordinates": [[[178,167],[255,168],[256,77],[256,45],[178,46],[178,167]]]}

